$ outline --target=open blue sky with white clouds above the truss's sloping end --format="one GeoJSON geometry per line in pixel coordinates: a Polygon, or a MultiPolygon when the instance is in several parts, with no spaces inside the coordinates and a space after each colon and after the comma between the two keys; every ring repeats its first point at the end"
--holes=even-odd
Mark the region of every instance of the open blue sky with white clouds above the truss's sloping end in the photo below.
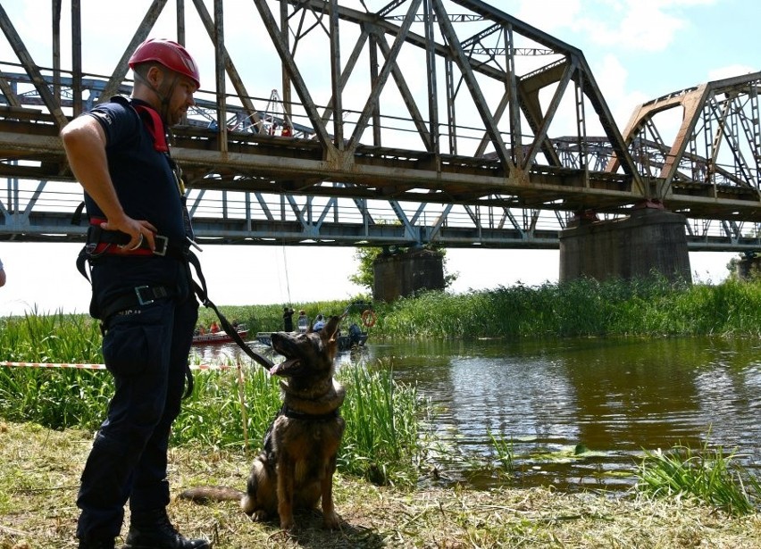
{"type": "MultiPolygon", "coordinates": [[[[622,128],[636,104],[761,71],[755,0],[524,0],[515,17],[584,53],[622,128]]],[[[503,8],[504,9],[504,8],[503,8]]]]}

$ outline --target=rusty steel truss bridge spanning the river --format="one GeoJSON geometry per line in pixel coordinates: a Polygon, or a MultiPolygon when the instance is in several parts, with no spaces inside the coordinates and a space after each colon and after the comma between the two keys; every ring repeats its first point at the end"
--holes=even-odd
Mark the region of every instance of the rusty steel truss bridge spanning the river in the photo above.
{"type": "Polygon", "coordinates": [[[129,95],[131,52],[161,36],[201,65],[172,155],[202,242],[555,248],[573,220],[665,207],[691,250],[761,247],[761,72],[621,133],[579,49],[478,0],[153,0],[107,40],[82,4],[52,0],[36,32],[0,5],[2,239],[83,238],[58,133],[129,95]]]}

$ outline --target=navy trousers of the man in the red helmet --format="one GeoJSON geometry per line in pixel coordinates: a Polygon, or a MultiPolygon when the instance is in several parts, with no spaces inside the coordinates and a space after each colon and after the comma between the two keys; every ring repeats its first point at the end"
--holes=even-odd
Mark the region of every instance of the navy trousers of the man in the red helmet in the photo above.
{"type": "Polygon", "coordinates": [[[188,265],[169,258],[105,258],[92,270],[91,310],[143,284],[173,295],[105,319],[103,355],[115,392],[82,473],[80,538],[119,535],[124,505],[163,510],[171,423],[180,413],[188,354],[198,318],[188,265]]]}

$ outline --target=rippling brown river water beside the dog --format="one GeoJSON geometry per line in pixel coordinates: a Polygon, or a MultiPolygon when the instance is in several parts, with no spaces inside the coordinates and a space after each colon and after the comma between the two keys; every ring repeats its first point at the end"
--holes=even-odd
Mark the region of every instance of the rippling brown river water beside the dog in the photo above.
{"type": "Polygon", "coordinates": [[[431,401],[445,481],[623,490],[645,450],[706,443],[761,469],[757,340],[371,340],[338,360],[392,368],[431,401]],[[508,475],[484,466],[493,437],[512,447],[508,475]]]}

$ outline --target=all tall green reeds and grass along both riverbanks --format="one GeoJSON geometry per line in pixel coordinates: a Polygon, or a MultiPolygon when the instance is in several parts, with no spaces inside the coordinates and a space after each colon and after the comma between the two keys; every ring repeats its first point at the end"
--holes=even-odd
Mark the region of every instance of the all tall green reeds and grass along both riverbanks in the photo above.
{"type": "MultiPolygon", "coordinates": [[[[360,296],[361,297],[361,296],[360,296]]],[[[365,298],[366,299],[366,298],[365,298]]],[[[317,313],[337,314],[347,302],[291,304],[317,313]]],[[[450,295],[429,292],[392,304],[375,304],[378,323],[373,338],[472,337],[644,337],[761,335],[761,282],[728,280],[687,285],[665,279],[579,279],[539,287],[498,287],[450,295]]],[[[250,329],[281,328],[282,304],[222,307],[230,320],[250,329]]],[[[202,309],[208,324],[213,312],[202,309]]],[[[347,323],[359,321],[358,312],[347,323]]],[[[0,320],[0,360],[10,362],[100,363],[100,330],[87,315],[55,313],[0,320]]],[[[280,408],[277,382],[255,367],[238,371],[199,371],[196,391],[183,403],[175,422],[173,445],[255,451],[280,408]],[[241,397],[242,395],[242,397],[241,397]]],[[[343,414],[347,432],[339,468],[379,484],[410,485],[421,462],[437,442],[428,440],[431,410],[414,387],[396,384],[393,365],[385,362],[343,365],[339,379],[347,386],[343,414]]],[[[49,428],[94,430],[113,391],[105,371],[0,368],[0,418],[35,421],[49,428]]],[[[510,474],[512,445],[489,433],[499,469],[510,474]]],[[[446,449],[445,449],[446,451],[446,449]]],[[[730,468],[734,459],[680,449],[653,453],[643,466],[640,486],[653,493],[687,494],[731,510],[742,510],[743,495],[761,492],[757,478],[730,468]],[[660,470],[653,464],[659,464],[660,470]],[[701,475],[691,480],[688,474],[701,475]],[[673,484],[670,484],[672,483],[673,484]],[[685,488],[689,487],[689,491],[685,488]],[[700,490],[702,489],[702,495],[700,490]],[[713,498],[713,499],[712,499],[713,498]]],[[[745,507],[743,507],[745,505],[745,507]]]]}

